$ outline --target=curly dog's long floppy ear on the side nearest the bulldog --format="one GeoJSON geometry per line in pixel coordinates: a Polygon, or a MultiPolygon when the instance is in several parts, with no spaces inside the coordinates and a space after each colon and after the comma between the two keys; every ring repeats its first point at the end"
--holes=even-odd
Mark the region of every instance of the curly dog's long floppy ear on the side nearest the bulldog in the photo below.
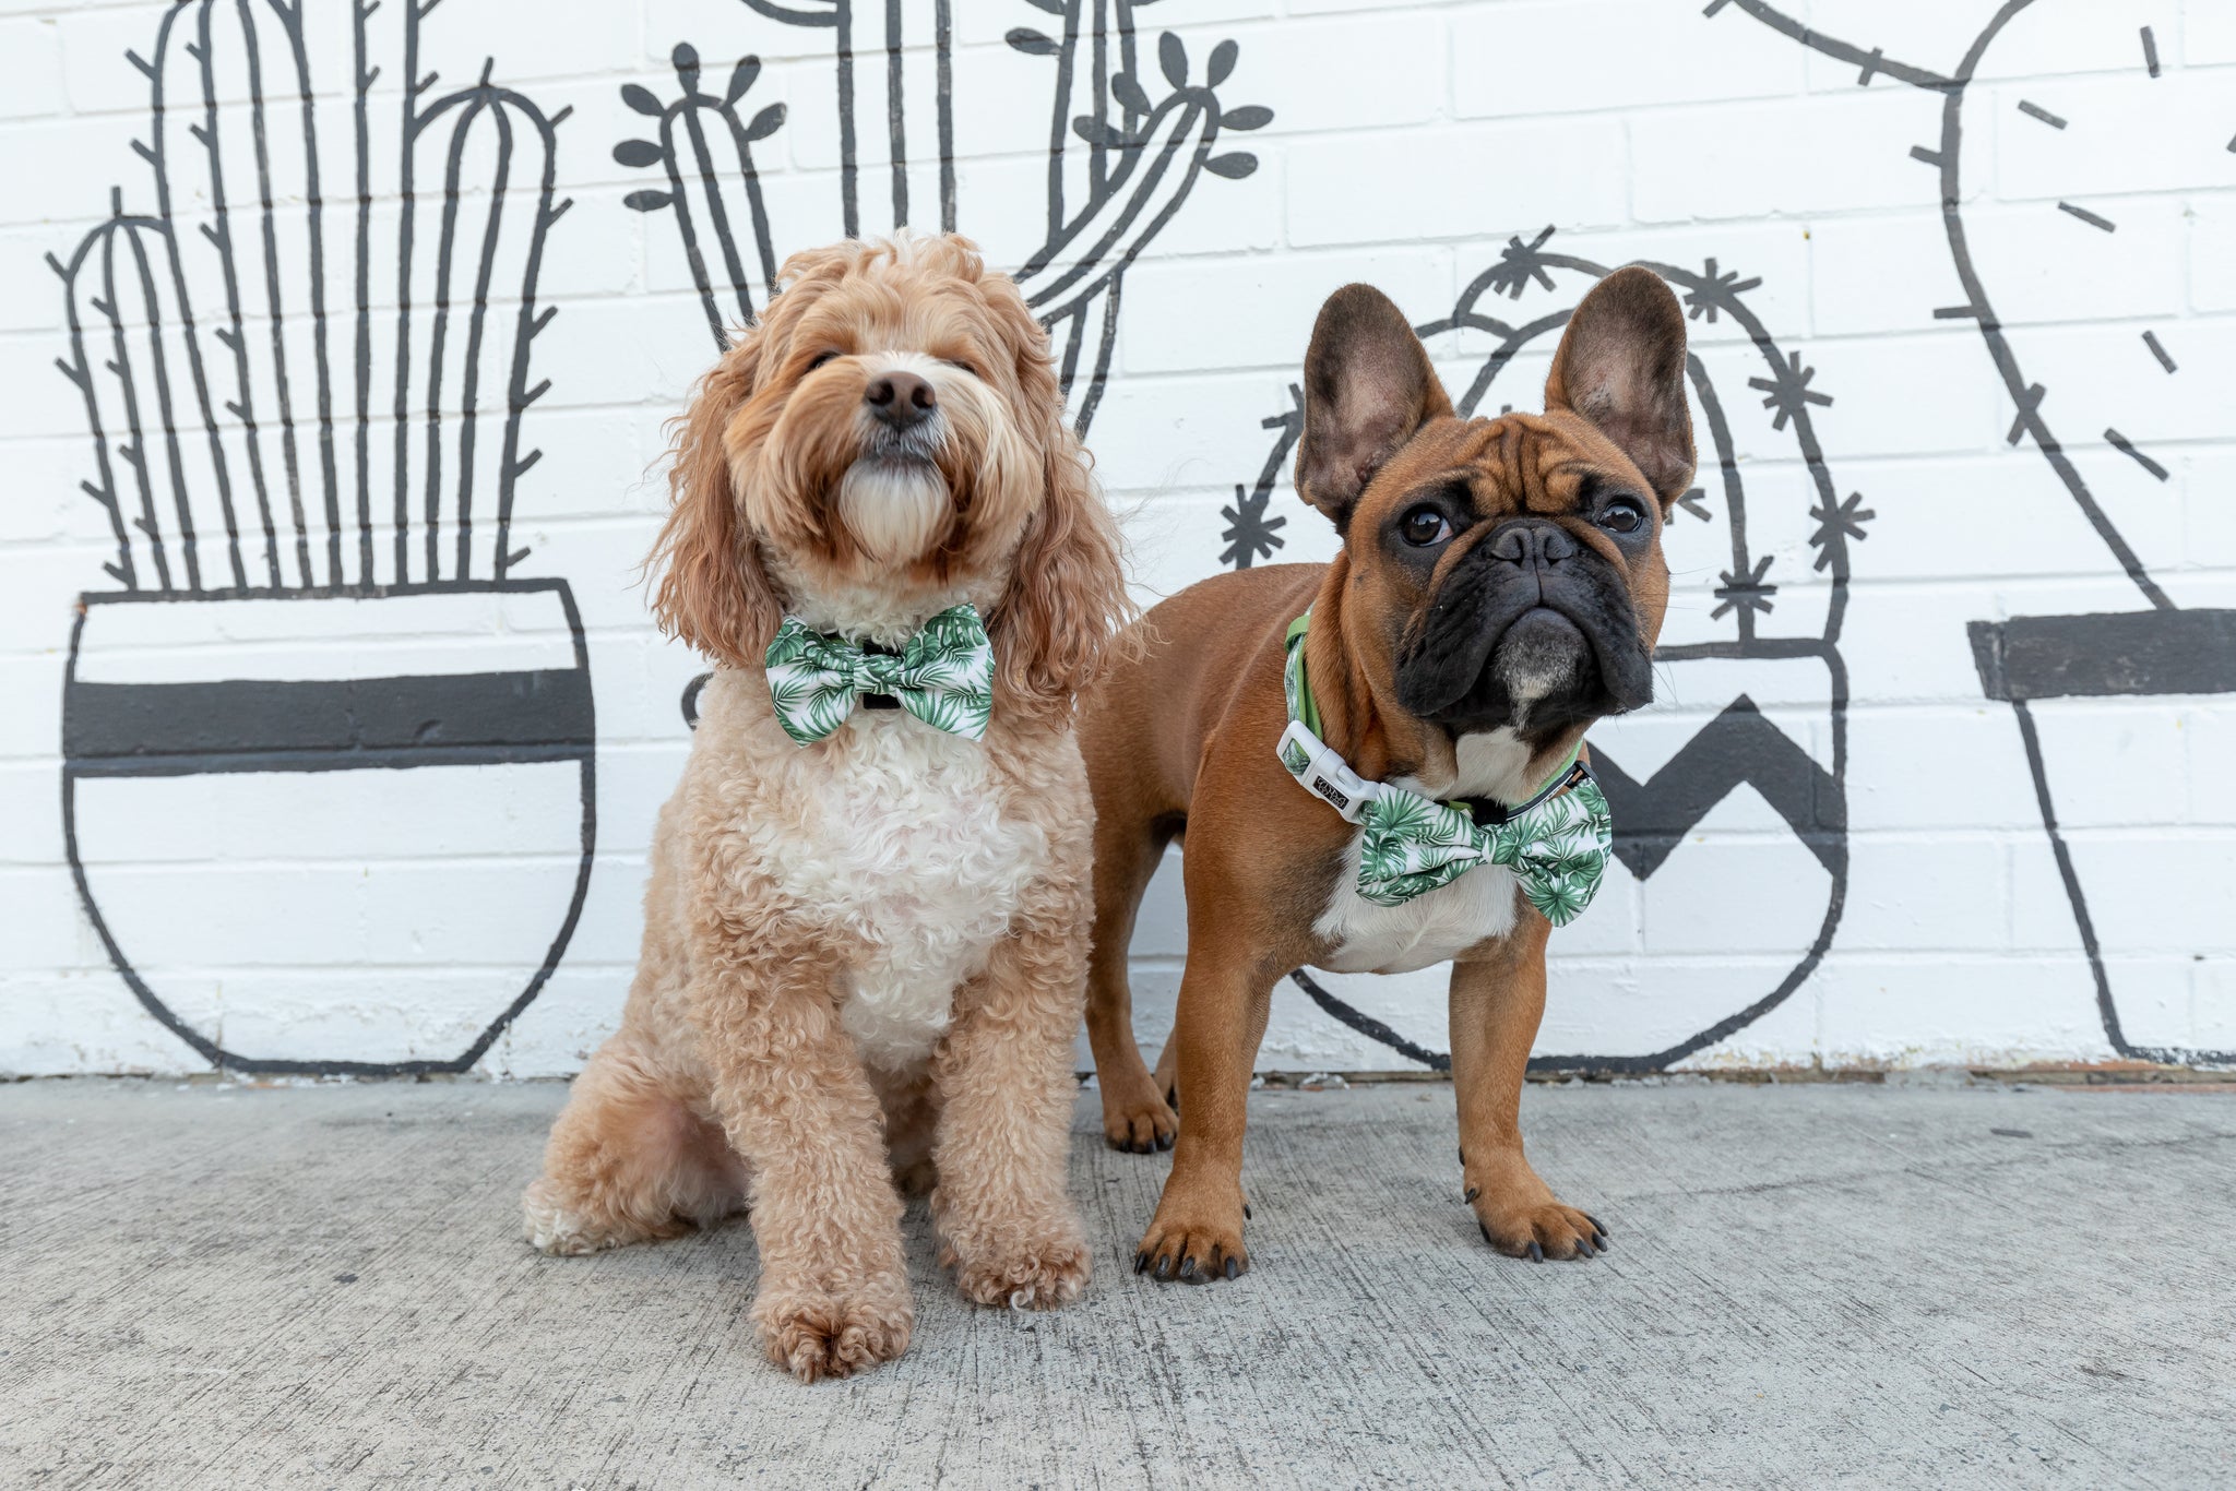
{"type": "Polygon", "coordinates": [[[1134,617],[1118,561],[1118,523],[1089,474],[1087,449],[1064,420],[1049,360],[1049,333],[1015,286],[993,277],[988,302],[1017,351],[1022,409],[1033,411],[1042,452],[1040,510],[1017,541],[1008,590],[988,617],[1008,706],[1060,715],[1096,682],[1107,648],[1134,617]],[[1006,295],[1002,291],[1008,291],[1006,295]]]}

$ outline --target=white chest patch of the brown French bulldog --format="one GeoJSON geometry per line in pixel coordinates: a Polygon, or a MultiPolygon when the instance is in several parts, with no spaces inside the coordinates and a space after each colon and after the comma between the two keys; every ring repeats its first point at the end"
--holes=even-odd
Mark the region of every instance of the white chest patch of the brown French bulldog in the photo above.
{"type": "MultiPolygon", "coordinates": [[[[1433,796],[1456,798],[1467,791],[1491,794],[1516,803],[1527,796],[1523,767],[1529,762],[1514,731],[1462,735],[1456,742],[1458,782],[1433,796]]],[[[1420,782],[1398,778],[1395,787],[1429,791],[1420,782]]],[[[1359,849],[1364,829],[1344,847],[1344,867],[1326,910],[1313,921],[1328,952],[1317,961],[1328,972],[1413,972],[1467,952],[1480,941],[1514,930],[1516,887],[1505,865],[1478,865],[1436,890],[1402,905],[1380,905],[1359,894],[1359,849]]]]}

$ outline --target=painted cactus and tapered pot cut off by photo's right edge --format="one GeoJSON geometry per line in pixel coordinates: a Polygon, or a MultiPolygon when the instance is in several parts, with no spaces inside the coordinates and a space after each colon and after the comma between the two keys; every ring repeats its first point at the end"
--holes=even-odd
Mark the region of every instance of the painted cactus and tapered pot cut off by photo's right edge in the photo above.
{"type": "Polygon", "coordinates": [[[1731,2],[1856,65],[1860,87],[1887,78],[1941,98],[1939,134],[1910,152],[1939,177],[1963,295],[1934,315],[1977,326],[2015,411],[2010,445],[2030,445],[2064,498],[2044,501],[2033,541],[2066,550],[2057,568],[2129,590],[2124,604],[1972,621],[1981,691],[2010,704],[2104,1039],[2124,1057],[2236,1066],[2236,818],[2202,794],[2158,789],[2225,771],[2198,742],[2187,767],[2169,765],[2196,735],[2191,711],[2236,693],[2236,610],[2180,539],[2167,541],[2162,514],[2178,503],[2173,483],[2191,481],[2182,445],[2225,438],[2236,416],[2236,338],[2211,320],[2073,331],[2117,315],[2151,273],[2131,248],[2149,217],[2185,212],[2135,192],[2236,186],[2227,85],[2180,67],[2171,45],[2162,56],[2160,38],[2180,34],[2169,0],[1948,7],[1889,16],[1894,34],[1858,42],[1762,0],[1731,2]],[[1927,47],[1952,60],[1921,65],[1927,47]],[[2012,85],[2003,58],[2059,76],[2012,85]],[[2156,148],[2104,150],[2106,121],[2156,148]]]}

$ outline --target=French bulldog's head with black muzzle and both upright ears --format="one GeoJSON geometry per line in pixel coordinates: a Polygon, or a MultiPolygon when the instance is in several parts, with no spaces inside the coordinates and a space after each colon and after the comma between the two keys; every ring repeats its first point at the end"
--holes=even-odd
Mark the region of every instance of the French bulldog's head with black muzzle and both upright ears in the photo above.
{"type": "Polygon", "coordinates": [[[1570,317],[1545,414],[1460,420],[1404,315],[1346,286],[1306,358],[1297,490],[1335,519],[1346,615],[1398,704],[1547,744],[1652,700],[1661,523],[1693,481],[1684,313],[1608,275],[1570,317]],[[1364,608],[1355,608],[1364,601],[1364,608]]]}

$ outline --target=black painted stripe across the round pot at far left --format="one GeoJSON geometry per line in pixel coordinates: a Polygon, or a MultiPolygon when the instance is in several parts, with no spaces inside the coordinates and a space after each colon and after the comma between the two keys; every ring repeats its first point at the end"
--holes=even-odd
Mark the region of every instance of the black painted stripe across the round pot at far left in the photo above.
{"type": "Polygon", "coordinates": [[[92,776],[561,760],[595,742],[590,677],[581,668],[72,682],[63,693],[63,756],[92,776]]]}

